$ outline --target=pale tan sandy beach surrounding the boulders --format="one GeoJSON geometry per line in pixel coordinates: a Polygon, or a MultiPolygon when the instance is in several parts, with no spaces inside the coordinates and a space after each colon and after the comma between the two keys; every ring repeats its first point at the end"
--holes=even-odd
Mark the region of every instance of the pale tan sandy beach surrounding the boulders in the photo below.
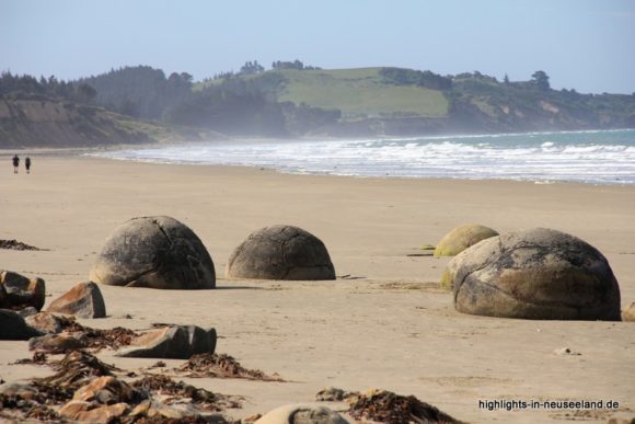
{"type": "MultiPolygon", "coordinates": [[[[32,174],[21,169],[14,175],[9,157],[1,159],[0,238],[49,251],[0,250],[0,268],[45,278],[47,305],[88,278],[104,239],[131,217],[169,215],[200,237],[215,261],[219,289],[103,286],[108,318],[81,322],[103,329],[146,329],[153,322],[215,326],[221,336],[217,352],[292,381],[187,380],[244,396],[244,408],[229,411],[234,417],[312,401],[326,386],[415,394],[469,422],[635,416],[635,323],[461,314],[450,294],[436,288],[448,260],[408,256],[469,222],[500,232],[555,228],[604,253],[626,306],[635,301],[633,186],[286,175],[71,156],[36,157],[32,174]],[[273,224],[296,225],[321,238],[338,279],[226,279],[232,249],[273,224]],[[562,347],[581,355],[554,353],[562,347]],[[621,408],[478,408],[478,400],[500,399],[615,400],[621,408]]],[[[30,356],[25,342],[0,342],[0,377],[11,381],[50,373],[10,365],[30,356]]],[[[107,351],[100,357],[125,368],[155,362],[116,358],[107,351]]]]}

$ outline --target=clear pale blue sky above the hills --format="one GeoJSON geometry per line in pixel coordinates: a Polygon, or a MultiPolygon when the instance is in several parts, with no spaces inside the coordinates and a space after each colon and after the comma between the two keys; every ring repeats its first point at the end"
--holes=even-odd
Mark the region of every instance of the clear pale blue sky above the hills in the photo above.
{"type": "Polygon", "coordinates": [[[635,92],[633,0],[0,0],[0,70],[60,79],[149,65],[195,80],[300,59],[478,70],[635,92]]]}

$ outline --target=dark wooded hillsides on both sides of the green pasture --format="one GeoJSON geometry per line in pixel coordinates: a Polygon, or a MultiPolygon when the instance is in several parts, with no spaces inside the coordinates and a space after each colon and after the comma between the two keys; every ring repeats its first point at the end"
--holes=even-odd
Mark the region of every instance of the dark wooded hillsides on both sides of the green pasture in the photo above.
{"type": "MultiPolygon", "coordinates": [[[[338,110],[278,100],[287,83],[284,71],[320,69],[296,59],[274,61],[273,71],[266,71],[253,60],[246,61],[239,72],[221,72],[196,83],[187,72],[165,75],[149,66],[111,69],[74,81],[3,71],[0,96],[28,93],[64,99],[135,118],[206,127],[228,135],[297,136],[342,121],[338,110]]],[[[635,94],[593,95],[552,90],[550,77],[542,70],[535,71],[529,81],[513,82],[507,76],[498,81],[478,71],[441,76],[394,67],[381,68],[379,76],[385,84],[441,91],[449,102],[449,117],[463,119],[481,130],[521,130],[530,118],[554,125],[555,110],[566,112],[558,115],[558,119],[566,115],[563,125],[613,125],[614,116],[625,123],[620,125],[635,124],[635,94]]]]}

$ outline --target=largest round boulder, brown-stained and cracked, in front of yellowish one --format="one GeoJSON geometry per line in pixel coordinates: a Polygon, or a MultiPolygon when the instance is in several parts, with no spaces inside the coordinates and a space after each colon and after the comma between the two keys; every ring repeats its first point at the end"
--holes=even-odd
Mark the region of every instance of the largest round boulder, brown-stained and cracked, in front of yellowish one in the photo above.
{"type": "Polygon", "coordinates": [[[461,253],[454,308],[477,316],[620,320],[620,287],[607,259],[561,231],[494,237],[461,253]]]}

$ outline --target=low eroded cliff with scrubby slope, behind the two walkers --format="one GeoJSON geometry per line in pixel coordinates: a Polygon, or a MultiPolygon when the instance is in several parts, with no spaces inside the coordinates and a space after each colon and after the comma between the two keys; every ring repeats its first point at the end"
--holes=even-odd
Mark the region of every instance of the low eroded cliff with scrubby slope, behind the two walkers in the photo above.
{"type": "Polygon", "coordinates": [[[44,96],[0,98],[0,149],[150,142],[130,118],[44,96]]]}

